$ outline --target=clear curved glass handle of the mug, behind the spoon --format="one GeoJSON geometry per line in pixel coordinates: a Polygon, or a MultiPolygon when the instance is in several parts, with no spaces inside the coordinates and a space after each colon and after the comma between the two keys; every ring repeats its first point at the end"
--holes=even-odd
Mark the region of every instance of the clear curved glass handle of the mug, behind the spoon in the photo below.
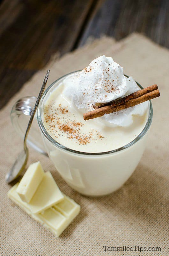
{"type": "MultiPolygon", "coordinates": [[[[26,128],[29,122],[29,119],[32,114],[34,105],[36,102],[36,97],[24,97],[18,100],[12,110],[11,110],[11,122],[15,131],[24,139],[26,128]]],[[[36,114],[35,114],[36,116],[36,114]]],[[[36,118],[34,118],[28,139],[28,145],[33,149],[40,152],[41,154],[48,156],[46,149],[44,147],[42,137],[40,134],[39,126],[36,118]]]]}

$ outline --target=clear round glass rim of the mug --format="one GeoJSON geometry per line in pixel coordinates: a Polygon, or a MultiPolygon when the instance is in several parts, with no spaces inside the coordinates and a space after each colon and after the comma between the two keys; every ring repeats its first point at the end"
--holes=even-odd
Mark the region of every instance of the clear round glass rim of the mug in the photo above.
{"type": "MultiPolygon", "coordinates": [[[[70,72],[64,76],[61,76],[60,78],[58,78],[57,80],[55,80],[52,84],[50,84],[48,86],[48,88],[45,90],[41,100],[40,100],[40,103],[39,103],[39,106],[38,106],[38,110],[37,110],[37,120],[38,120],[38,124],[39,124],[39,127],[40,127],[40,130],[42,132],[42,134],[57,148],[60,148],[60,149],[63,149],[65,151],[68,151],[70,153],[75,153],[75,154],[78,154],[78,155],[88,155],[88,156],[97,156],[97,155],[107,155],[107,154],[112,154],[112,153],[116,153],[116,152],[119,152],[121,150],[124,150],[126,148],[129,148],[130,146],[134,145],[137,141],[139,141],[145,134],[146,132],[149,130],[150,128],[150,125],[151,125],[151,122],[152,122],[152,116],[153,116],[153,109],[152,109],[152,104],[151,104],[151,100],[150,101],[150,106],[149,106],[149,115],[148,115],[148,118],[147,118],[147,122],[143,128],[143,130],[140,132],[140,134],[132,141],[130,141],[128,144],[120,147],[120,148],[117,148],[117,149],[113,149],[113,150],[110,150],[110,151],[104,151],[104,152],[97,152],[97,153],[89,153],[89,152],[83,152],[83,151],[78,151],[78,150],[74,150],[74,149],[71,149],[71,148],[67,148],[65,146],[63,146],[62,144],[60,144],[59,142],[57,142],[56,140],[54,140],[50,135],[49,133],[47,132],[47,130],[45,129],[44,125],[43,125],[43,121],[42,121],[42,117],[41,117],[41,107],[42,107],[42,102],[46,96],[46,94],[48,93],[48,91],[57,83],[59,82],[59,80],[61,80],[62,78],[64,78],[65,76],[68,76],[70,74],[73,74],[73,73],[76,73],[76,72],[80,72],[82,70],[77,70],[77,71],[73,71],[73,72],[70,72]]],[[[124,74],[124,76],[126,77],[129,77],[127,75],[124,74]]],[[[136,82],[136,81],[135,81],[136,82]]],[[[141,88],[143,89],[143,87],[136,82],[136,84],[141,88]]]]}

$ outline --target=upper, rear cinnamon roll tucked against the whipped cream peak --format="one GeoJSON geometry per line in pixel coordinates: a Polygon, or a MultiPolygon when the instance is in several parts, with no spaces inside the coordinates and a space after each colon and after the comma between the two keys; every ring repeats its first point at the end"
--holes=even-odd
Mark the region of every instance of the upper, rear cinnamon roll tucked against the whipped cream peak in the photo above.
{"type": "Polygon", "coordinates": [[[128,101],[128,100],[132,100],[132,99],[136,99],[146,93],[149,93],[149,92],[152,92],[152,91],[155,91],[158,89],[158,86],[157,84],[153,84],[147,88],[144,88],[142,90],[138,90],[137,92],[133,92],[131,94],[129,94],[128,96],[124,97],[124,98],[121,98],[119,100],[114,100],[114,101],[111,101],[111,102],[108,102],[108,103],[105,103],[105,104],[102,104],[98,107],[95,107],[96,108],[102,108],[103,106],[107,106],[107,105],[111,105],[112,107],[115,107],[117,105],[121,105],[122,103],[128,101]]]}

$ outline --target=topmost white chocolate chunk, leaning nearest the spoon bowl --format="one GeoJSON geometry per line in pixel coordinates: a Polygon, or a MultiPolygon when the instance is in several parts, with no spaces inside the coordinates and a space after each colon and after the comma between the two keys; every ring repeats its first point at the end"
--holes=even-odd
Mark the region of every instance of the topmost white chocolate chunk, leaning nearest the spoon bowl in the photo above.
{"type": "Polygon", "coordinates": [[[17,193],[22,201],[29,203],[44,177],[44,171],[40,162],[31,164],[20,181],[17,193]]]}

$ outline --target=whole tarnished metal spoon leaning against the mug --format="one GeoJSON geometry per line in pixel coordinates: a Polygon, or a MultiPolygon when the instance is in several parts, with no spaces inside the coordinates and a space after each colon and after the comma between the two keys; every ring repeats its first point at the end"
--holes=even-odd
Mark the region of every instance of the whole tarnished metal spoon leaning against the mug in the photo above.
{"type": "Polygon", "coordinates": [[[46,73],[46,76],[45,76],[45,79],[43,81],[42,87],[40,89],[40,93],[39,93],[38,98],[36,100],[36,103],[34,105],[31,117],[29,119],[29,123],[28,123],[27,129],[26,129],[26,133],[25,133],[25,137],[24,137],[24,150],[19,154],[19,156],[16,159],[14,165],[12,166],[10,172],[8,172],[6,174],[6,176],[5,176],[5,180],[8,183],[10,183],[11,181],[15,180],[18,177],[18,175],[20,175],[21,172],[25,169],[25,166],[26,166],[26,163],[27,163],[27,159],[28,159],[28,154],[29,154],[28,148],[26,146],[26,140],[27,140],[27,137],[28,137],[29,130],[31,128],[33,117],[34,117],[34,115],[36,113],[36,109],[37,109],[38,104],[40,102],[40,99],[41,99],[41,97],[43,95],[43,92],[45,90],[45,86],[46,86],[47,81],[48,81],[49,72],[50,72],[50,70],[48,69],[48,71],[46,73]]]}

